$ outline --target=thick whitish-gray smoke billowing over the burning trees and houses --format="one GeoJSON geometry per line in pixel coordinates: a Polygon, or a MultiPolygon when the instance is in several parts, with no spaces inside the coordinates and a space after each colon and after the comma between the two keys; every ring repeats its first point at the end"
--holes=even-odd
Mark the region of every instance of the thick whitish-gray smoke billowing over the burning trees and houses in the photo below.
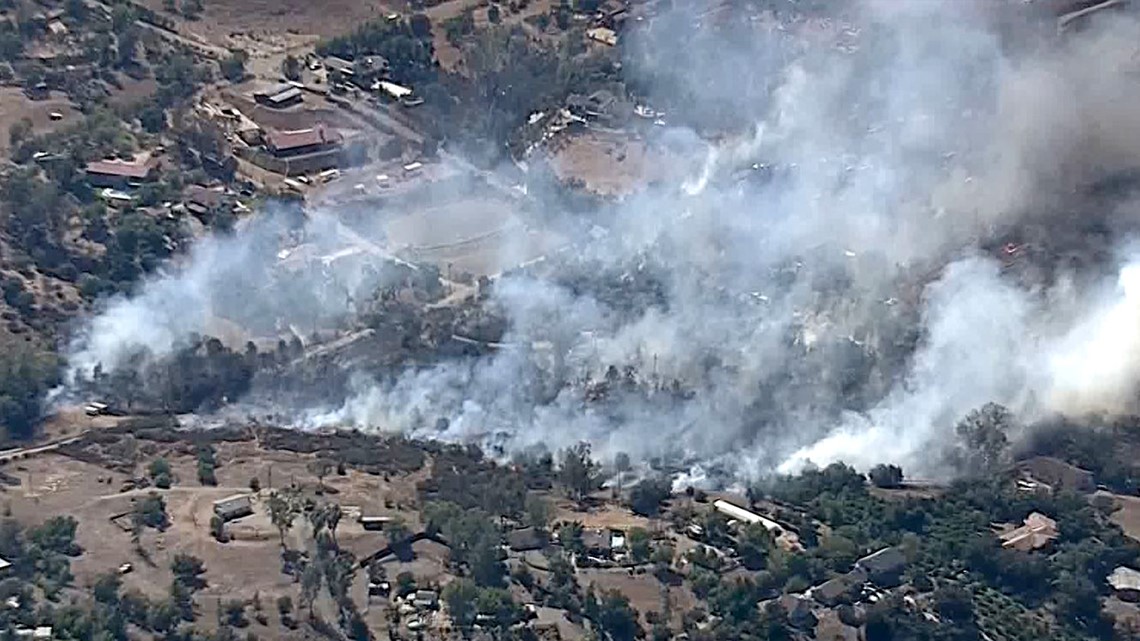
{"type": "MultiPolygon", "coordinates": [[[[1107,269],[1062,257],[1084,252],[1089,219],[1130,232],[1132,203],[1084,194],[1140,169],[1140,31],[1113,16],[1068,39],[1015,30],[1015,47],[984,7],[722,21],[756,30],[742,38],[694,26],[687,6],[659,17],[629,43],[627,68],[651,102],[736,133],[656,136],[687,156],[689,179],[596,225],[542,203],[560,230],[591,233],[496,281],[489,305],[508,323],[498,351],[383,381],[360,372],[343,403],[300,422],[505,452],[589,440],[602,455],[741,477],[836,460],[945,474],[933,446],[987,401],[1029,421],[1135,411],[1140,258],[1124,243],[1097,248],[1115,257],[1107,269]],[[691,42],[685,56],[676,42],[691,42]]],[[[307,227],[339,228],[339,214],[307,227]]],[[[327,282],[219,294],[231,274],[282,279],[246,249],[261,246],[258,229],[111,303],[73,366],[169,351],[213,316],[287,326],[319,300],[326,318],[310,324],[347,323],[351,297],[332,300],[327,282]]],[[[360,290],[382,271],[336,282],[360,290]]]]}

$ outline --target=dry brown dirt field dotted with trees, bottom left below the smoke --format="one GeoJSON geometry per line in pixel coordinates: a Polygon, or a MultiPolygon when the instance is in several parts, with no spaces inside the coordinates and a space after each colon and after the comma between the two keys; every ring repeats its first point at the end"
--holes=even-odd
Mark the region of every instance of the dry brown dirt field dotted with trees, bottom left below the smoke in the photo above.
{"type": "MultiPolygon", "coordinates": [[[[316,479],[307,466],[311,456],[264,451],[254,441],[218,444],[218,486],[203,487],[196,478],[193,446],[185,443],[160,445],[146,440],[138,440],[136,445],[139,453],[137,473],[141,473],[149,461],[164,456],[171,463],[176,478],[172,488],[119,492],[127,474],[52,453],[5,465],[5,471],[18,478],[21,485],[0,487],[0,502],[14,518],[27,525],[58,514],[70,514],[79,521],[76,541],[83,553],[72,560],[72,573],[80,593],[85,592],[100,574],[130,562],[133,571],[123,577],[124,587],[161,598],[170,589],[170,562],[174,554],[190,553],[202,559],[206,568],[207,586],[196,595],[201,622],[210,625],[215,620],[214,610],[219,602],[251,599],[256,593],[269,618],[269,627],[254,623],[250,610],[247,618],[252,628],[259,635],[269,632],[270,638],[299,638],[300,632],[280,626],[274,605],[282,594],[290,594],[296,601],[298,587],[291,577],[280,571],[279,535],[270,524],[264,500],[270,482],[274,487],[296,484],[309,490],[315,488],[316,479]],[[228,524],[231,541],[218,543],[209,532],[212,502],[234,494],[247,494],[250,479],[254,477],[260,479],[263,488],[254,497],[254,513],[228,524]],[[147,529],[142,534],[140,546],[146,553],[144,557],[131,542],[129,525],[125,525],[129,520],[120,519],[125,521],[124,529],[112,517],[129,512],[132,500],[150,492],[157,492],[165,500],[170,527],[164,532],[147,529]]],[[[325,498],[368,514],[399,514],[415,527],[416,513],[410,508],[415,502],[415,481],[420,474],[392,476],[390,480],[384,480],[381,476],[350,469],[345,476],[334,473],[326,477],[328,489],[325,490],[325,498]]],[[[337,538],[344,549],[358,557],[386,545],[383,534],[364,530],[349,514],[341,521],[337,538]]],[[[303,517],[294,521],[286,542],[294,549],[311,544],[310,528],[303,517]]],[[[438,554],[432,551],[422,557],[434,559],[438,554]]],[[[415,562],[425,561],[417,559],[415,562]]],[[[429,574],[430,569],[424,566],[418,571],[429,574]]],[[[359,587],[353,593],[359,595],[363,606],[366,592],[364,584],[359,587]]]]}

